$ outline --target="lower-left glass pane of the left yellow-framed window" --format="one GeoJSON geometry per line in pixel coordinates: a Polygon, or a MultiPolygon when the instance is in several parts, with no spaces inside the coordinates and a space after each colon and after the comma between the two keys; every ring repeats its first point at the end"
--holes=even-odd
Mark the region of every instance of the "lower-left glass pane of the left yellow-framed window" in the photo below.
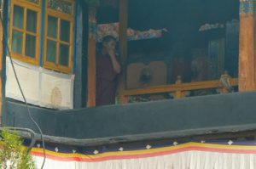
{"type": "Polygon", "coordinates": [[[23,33],[13,30],[12,51],[22,54],[23,33]]]}

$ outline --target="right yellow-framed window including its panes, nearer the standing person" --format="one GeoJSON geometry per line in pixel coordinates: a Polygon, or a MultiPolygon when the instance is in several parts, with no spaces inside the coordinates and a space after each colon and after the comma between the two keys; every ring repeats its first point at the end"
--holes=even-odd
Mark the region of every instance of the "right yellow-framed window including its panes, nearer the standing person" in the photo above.
{"type": "Polygon", "coordinates": [[[71,72],[73,65],[73,1],[47,1],[44,67],[71,72]]]}

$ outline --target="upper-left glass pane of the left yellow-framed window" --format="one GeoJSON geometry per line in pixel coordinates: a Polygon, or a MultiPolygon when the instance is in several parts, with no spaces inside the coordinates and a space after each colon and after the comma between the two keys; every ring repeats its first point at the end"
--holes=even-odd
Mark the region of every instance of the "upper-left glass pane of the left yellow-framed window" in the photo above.
{"type": "Polygon", "coordinates": [[[24,27],[24,8],[21,8],[21,7],[15,5],[13,17],[14,17],[13,25],[20,29],[23,29],[23,27],[24,27]]]}

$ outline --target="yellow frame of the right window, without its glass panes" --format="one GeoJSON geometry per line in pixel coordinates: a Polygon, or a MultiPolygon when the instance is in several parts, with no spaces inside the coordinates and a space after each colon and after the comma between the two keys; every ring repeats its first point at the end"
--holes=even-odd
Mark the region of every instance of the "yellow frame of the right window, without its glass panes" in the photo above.
{"type": "Polygon", "coordinates": [[[61,71],[63,73],[72,73],[73,69],[73,13],[74,13],[74,1],[66,0],[68,3],[72,3],[72,14],[64,14],[60,11],[56,11],[52,8],[48,8],[48,4],[46,4],[46,12],[45,12],[45,31],[44,31],[44,68],[49,70],[61,71]],[[48,15],[53,16],[58,19],[58,29],[57,29],[57,38],[48,37],[48,15]],[[64,42],[60,40],[61,36],[61,20],[67,20],[70,22],[70,39],[69,42],[64,42]],[[47,61],[47,40],[55,41],[57,43],[56,46],[56,63],[47,61]],[[69,60],[68,66],[59,65],[60,60],[60,43],[69,46],[69,60]]]}

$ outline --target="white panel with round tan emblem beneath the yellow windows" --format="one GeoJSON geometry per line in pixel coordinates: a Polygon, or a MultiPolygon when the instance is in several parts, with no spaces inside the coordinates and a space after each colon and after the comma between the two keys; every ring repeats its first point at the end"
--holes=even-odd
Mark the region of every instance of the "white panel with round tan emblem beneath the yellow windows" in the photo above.
{"type": "MultiPolygon", "coordinates": [[[[13,60],[20,86],[29,104],[60,110],[73,109],[74,75],[62,74],[13,60]]],[[[9,57],[6,59],[6,76],[6,97],[24,101],[9,57]]]]}

